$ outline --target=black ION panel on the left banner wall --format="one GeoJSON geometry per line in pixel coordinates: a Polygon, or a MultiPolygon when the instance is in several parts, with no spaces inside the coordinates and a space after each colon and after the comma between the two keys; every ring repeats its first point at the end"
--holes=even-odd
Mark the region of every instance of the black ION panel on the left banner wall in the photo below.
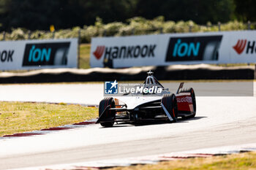
{"type": "Polygon", "coordinates": [[[26,44],[23,66],[67,65],[70,42],[26,44]]]}

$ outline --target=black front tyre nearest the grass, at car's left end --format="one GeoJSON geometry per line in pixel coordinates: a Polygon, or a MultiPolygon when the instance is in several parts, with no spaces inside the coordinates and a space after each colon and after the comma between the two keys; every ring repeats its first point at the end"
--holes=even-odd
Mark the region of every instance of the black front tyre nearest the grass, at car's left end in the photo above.
{"type": "MultiPolygon", "coordinates": [[[[115,101],[112,97],[105,97],[102,101],[99,102],[99,117],[102,115],[102,112],[106,107],[110,105],[110,108],[115,107],[115,101]]],[[[108,120],[108,122],[101,122],[100,125],[103,127],[112,127],[116,117],[116,112],[114,110],[108,110],[102,115],[103,120],[108,120]]]]}

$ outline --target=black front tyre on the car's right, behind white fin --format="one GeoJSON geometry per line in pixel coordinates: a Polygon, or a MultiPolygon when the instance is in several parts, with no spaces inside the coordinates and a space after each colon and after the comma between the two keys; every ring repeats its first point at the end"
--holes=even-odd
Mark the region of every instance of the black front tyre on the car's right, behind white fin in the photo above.
{"type": "Polygon", "coordinates": [[[165,94],[162,96],[162,104],[165,106],[167,111],[173,117],[172,122],[177,122],[178,119],[178,105],[175,94],[165,94]]]}

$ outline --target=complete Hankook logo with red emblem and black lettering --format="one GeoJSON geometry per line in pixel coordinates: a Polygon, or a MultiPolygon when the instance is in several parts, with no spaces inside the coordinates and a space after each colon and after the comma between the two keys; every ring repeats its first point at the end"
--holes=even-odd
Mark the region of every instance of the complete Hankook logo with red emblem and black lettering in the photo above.
{"type": "Polygon", "coordinates": [[[97,46],[93,55],[95,58],[97,58],[97,60],[99,60],[104,54],[104,66],[113,68],[113,60],[154,57],[156,47],[157,45],[135,45],[121,47],[105,47],[104,45],[99,45],[97,46]]]}

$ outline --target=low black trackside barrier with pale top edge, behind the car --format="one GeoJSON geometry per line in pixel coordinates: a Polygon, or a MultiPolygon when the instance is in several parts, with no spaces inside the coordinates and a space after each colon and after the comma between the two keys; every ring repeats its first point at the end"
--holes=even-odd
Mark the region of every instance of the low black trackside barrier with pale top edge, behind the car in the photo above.
{"type": "Polygon", "coordinates": [[[207,64],[190,66],[146,66],[128,69],[42,69],[23,73],[0,73],[0,83],[90,82],[145,80],[152,70],[158,80],[253,80],[255,66],[223,67],[207,64]]]}

